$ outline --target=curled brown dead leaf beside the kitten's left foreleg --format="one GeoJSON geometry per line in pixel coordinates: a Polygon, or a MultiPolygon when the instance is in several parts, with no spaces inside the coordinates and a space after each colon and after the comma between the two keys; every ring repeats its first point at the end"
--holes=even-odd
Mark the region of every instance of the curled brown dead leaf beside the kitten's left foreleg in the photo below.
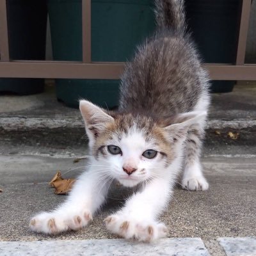
{"type": "Polygon", "coordinates": [[[49,185],[55,188],[54,193],[56,195],[65,195],[71,190],[74,182],[75,179],[63,179],[61,177],[61,172],[58,171],[49,182],[49,185]]]}

